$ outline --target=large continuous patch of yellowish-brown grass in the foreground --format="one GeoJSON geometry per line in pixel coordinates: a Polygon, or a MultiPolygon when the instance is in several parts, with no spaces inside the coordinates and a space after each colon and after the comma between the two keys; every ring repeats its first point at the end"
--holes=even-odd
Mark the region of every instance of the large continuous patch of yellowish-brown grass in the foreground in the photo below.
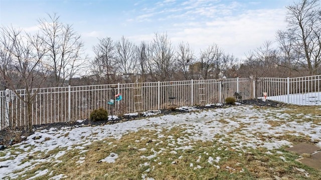
{"type": "MultiPolygon", "coordinates": [[[[171,153],[174,147],[169,144],[183,139],[183,131],[180,128],[164,129],[164,137],[158,138],[156,131],[140,130],[126,134],[119,140],[108,138],[97,141],[84,154],[70,151],[63,155],[60,158],[63,163],[56,166],[55,173],[68,175],[66,179],[141,179],[142,174],[154,179],[274,179],[274,175],[280,178],[305,178],[303,173],[293,171],[294,167],[302,168],[304,165],[296,162],[294,159],[298,156],[290,152],[284,152],[283,156],[288,159],[284,162],[279,158],[280,154],[266,154],[265,148],[248,149],[250,153],[240,153],[228,144],[212,139],[189,142],[193,149],[171,153]],[[146,150],[138,150],[141,148],[146,150]],[[153,150],[159,152],[155,157],[142,158],[154,154],[153,150]],[[119,156],[115,163],[99,162],[110,152],[119,156]],[[77,163],[81,156],[85,157],[85,161],[77,163]],[[213,162],[219,169],[208,162],[210,156],[214,159],[221,157],[218,163],[213,162]],[[201,168],[196,168],[197,165],[201,168]]],[[[321,175],[319,171],[304,168],[309,169],[310,179],[317,179],[321,175]]]]}

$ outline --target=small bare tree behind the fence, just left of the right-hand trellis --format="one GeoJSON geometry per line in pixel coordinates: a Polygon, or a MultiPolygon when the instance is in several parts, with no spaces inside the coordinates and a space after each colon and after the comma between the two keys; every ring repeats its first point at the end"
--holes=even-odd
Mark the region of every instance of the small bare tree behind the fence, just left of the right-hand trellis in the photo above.
{"type": "MultiPolygon", "coordinates": [[[[189,67],[194,63],[194,51],[190,48],[189,43],[180,42],[177,49],[177,67],[178,75],[183,76],[184,80],[192,78],[192,74],[189,73],[189,67]],[[182,74],[182,75],[180,75],[182,74]]],[[[181,78],[179,78],[181,79],[181,78]]]]}

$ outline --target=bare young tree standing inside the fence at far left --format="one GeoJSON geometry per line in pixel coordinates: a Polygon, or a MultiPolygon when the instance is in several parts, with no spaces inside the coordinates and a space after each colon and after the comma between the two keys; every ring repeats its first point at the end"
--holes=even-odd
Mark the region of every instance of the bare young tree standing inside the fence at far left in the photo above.
{"type": "Polygon", "coordinates": [[[28,129],[32,131],[33,103],[37,92],[46,80],[43,61],[47,53],[47,44],[39,35],[22,34],[14,28],[1,28],[0,39],[2,46],[2,60],[5,63],[0,67],[5,85],[10,88],[27,106],[28,129]],[[15,77],[13,78],[13,74],[15,77]],[[25,88],[21,94],[17,87],[25,88]]]}

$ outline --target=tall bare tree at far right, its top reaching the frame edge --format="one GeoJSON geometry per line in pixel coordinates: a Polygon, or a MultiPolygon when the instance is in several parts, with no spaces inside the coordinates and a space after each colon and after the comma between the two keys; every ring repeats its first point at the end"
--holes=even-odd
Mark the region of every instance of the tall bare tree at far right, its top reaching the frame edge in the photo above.
{"type": "Polygon", "coordinates": [[[303,65],[314,75],[321,63],[321,7],[318,0],[300,0],[286,8],[288,26],[302,48],[297,53],[302,53],[303,65]]]}

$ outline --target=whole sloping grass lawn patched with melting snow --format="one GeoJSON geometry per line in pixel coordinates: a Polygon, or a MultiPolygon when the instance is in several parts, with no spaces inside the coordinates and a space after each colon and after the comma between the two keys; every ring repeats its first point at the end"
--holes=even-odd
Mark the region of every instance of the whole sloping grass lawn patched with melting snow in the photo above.
{"type": "Polygon", "coordinates": [[[320,170],[295,161],[299,155],[284,149],[300,142],[320,146],[320,119],[320,106],[240,105],[37,130],[0,151],[0,177],[319,179],[320,170]]]}

